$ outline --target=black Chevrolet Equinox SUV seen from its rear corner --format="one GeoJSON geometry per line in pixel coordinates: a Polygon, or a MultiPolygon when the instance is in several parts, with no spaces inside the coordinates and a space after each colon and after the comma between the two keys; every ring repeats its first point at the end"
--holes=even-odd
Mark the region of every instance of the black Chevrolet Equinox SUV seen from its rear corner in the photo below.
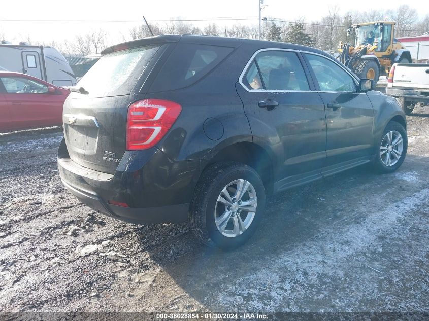
{"type": "Polygon", "coordinates": [[[266,193],[404,161],[397,101],[320,50],[164,35],[102,55],[65,101],[58,168],[113,218],[188,221],[232,248],[257,228],[266,193]]]}

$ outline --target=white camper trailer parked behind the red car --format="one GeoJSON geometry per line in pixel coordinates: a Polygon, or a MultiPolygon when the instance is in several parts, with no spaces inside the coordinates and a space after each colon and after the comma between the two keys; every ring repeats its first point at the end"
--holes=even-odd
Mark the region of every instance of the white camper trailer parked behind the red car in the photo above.
{"type": "Polygon", "coordinates": [[[49,46],[0,44],[0,70],[28,74],[55,86],[77,83],[67,60],[49,46]]]}

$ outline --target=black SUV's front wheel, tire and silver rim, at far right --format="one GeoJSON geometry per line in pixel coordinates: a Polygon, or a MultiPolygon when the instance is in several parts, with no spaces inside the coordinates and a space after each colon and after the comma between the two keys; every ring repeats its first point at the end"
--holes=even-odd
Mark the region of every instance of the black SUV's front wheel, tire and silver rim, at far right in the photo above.
{"type": "Polygon", "coordinates": [[[389,122],[377,145],[374,166],[378,172],[391,173],[405,160],[408,148],[407,131],[397,122],[389,122]]]}

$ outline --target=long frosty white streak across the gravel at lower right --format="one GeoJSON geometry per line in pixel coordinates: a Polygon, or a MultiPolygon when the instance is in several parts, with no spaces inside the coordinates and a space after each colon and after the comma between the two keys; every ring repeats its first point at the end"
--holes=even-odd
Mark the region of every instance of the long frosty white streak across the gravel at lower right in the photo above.
{"type": "MultiPolygon", "coordinates": [[[[405,177],[410,179],[412,176],[405,177]]],[[[296,300],[314,295],[313,289],[318,288],[326,277],[344,277],[335,266],[355,260],[356,253],[365,252],[366,248],[377,247],[379,244],[377,235],[395,229],[398,221],[428,198],[429,189],[424,189],[401,201],[391,203],[381,211],[371,212],[369,208],[366,211],[366,219],[316,235],[292,251],[270,261],[267,267],[226,285],[218,299],[222,305],[234,306],[236,310],[300,311],[302,307],[296,305],[296,300]],[[344,242],[345,240],[347,242],[344,242]],[[282,274],[278,271],[282,271],[282,274]],[[243,284],[252,286],[246,289],[243,288],[243,284]],[[245,297],[246,302],[241,304],[240,297],[245,297]]],[[[364,209],[355,209],[356,216],[362,210],[364,209]]],[[[377,268],[382,271],[382,268],[377,268]]],[[[368,283],[367,286],[371,292],[372,284],[368,283]]]]}

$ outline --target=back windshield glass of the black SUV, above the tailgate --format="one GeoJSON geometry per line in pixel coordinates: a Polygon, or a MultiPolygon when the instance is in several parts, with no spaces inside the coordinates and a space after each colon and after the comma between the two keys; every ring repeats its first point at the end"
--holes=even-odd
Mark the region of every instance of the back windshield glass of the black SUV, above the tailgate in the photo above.
{"type": "Polygon", "coordinates": [[[83,87],[91,97],[128,95],[158,49],[159,45],[145,46],[105,55],[77,87],[83,87]]]}

